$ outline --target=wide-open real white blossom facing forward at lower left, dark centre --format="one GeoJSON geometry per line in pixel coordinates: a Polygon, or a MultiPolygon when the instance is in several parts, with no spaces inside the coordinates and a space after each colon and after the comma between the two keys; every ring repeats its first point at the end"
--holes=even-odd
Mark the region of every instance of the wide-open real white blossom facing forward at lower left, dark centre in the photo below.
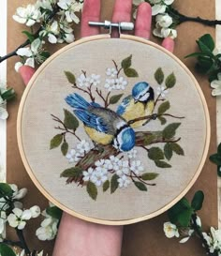
{"type": "Polygon", "coordinates": [[[19,208],[14,208],[12,212],[7,217],[7,221],[12,228],[22,230],[26,225],[26,220],[32,218],[32,212],[30,210],[22,211],[19,208]]]}

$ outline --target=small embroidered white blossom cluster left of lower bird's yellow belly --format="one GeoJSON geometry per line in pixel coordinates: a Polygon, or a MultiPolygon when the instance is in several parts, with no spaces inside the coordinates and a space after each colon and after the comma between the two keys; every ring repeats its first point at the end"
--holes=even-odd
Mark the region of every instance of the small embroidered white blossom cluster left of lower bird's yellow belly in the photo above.
{"type": "Polygon", "coordinates": [[[67,154],[66,158],[69,163],[78,162],[92,149],[92,145],[85,140],[82,140],[81,143],[78,143],[76,148],[72,148],[67,154]]]}

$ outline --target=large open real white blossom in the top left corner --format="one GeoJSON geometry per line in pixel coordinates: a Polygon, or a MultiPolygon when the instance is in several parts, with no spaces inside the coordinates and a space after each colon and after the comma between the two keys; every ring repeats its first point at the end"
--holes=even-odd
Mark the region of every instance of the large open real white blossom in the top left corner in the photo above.
{"type": "Polygon", "coordinates": [[[26,23],[27,26],[32,26],[40,22],[41,13],[34,5],[28,5],[26,8],[17,8],[13,19],[18,23],[26,23]]]}

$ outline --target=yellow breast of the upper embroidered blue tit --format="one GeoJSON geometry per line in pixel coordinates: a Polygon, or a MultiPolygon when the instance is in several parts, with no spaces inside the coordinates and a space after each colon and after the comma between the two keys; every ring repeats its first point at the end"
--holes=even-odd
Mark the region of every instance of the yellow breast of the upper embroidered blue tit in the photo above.
{"type": "MultiPolygon", "coordinates": [[[[130,120],[139,118],[141,116],[150,115],[153,113],[155,108],[154,100],[148,101],[147,104],[141,102],[135,103],[134,99],[130,100],[129,105],[126,106],[125,113],[122,115],[128,122],[130,120]]],[[[138,121],[131,125],[132,128],[140,128],[146,120],[138,121]]]]}

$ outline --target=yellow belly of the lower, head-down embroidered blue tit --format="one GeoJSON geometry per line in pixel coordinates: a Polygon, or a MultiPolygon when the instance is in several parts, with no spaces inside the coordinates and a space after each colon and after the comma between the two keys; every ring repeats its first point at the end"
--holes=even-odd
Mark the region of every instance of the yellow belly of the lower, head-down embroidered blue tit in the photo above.
{"type": "Polygon", "coordinates": [[[99,132],[95,128],[88,128],[86,126],[84,128],[85,128],[87,135],[95,143],[107,145],[107,144],[110,144],[113,140],[113,136],[110,134],[99,132]]]}

